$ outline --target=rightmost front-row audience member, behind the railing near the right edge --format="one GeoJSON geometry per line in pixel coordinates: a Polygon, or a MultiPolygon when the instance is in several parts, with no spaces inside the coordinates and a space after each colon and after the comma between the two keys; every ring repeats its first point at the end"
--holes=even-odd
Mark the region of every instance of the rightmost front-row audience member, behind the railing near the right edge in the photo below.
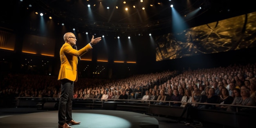
{"type": "Polygon", "coordinates": [[[248,89],[243,89],[241,90],[241,97],[235,97],[233,103],[231,103],[232,105],[239,105],[238,107],[236,106],[230,106],[229,108],[227,108],[227,111],[234,111],[234,112],[238,112],[238,111],[251,111],[252,108],[249,107],[240,107],[240,106],[254,106],[255,102],[254,99],[252,99],[250,97],[250,92],[248,89]]]}

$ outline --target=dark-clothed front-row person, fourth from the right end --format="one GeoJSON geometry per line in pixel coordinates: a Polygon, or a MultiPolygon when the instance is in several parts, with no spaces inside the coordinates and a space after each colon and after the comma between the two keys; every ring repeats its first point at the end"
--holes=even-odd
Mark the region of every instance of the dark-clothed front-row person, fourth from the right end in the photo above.
{"type": "MultiPolygon", "coordinates": [[[[209,95],[207,96],[207,99],[205,102],[202,103],[217,103],[218,96],[215,93],[214,88],[209,89],[209,95]]],[[[206,108],[206,109],[215,109],[215,105],[211,104],[201,104],[198,106],[198,108],[206,108]]]]}

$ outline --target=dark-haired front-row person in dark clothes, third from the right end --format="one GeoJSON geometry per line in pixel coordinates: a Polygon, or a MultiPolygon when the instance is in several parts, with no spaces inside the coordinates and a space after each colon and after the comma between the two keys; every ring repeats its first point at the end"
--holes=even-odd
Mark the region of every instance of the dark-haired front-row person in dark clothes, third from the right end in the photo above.
{"type": "Polygon", "coordinates": [[[216,105],[216,109],[218,110],[227,110],[229,106],[222,106],[221,104],[231,104],[234,101],[234,98],[229,96],[229,91],[227,88],[222,88],[220,90],[220,96],[218,96],[217,103],[220,105],[216,105]]]}

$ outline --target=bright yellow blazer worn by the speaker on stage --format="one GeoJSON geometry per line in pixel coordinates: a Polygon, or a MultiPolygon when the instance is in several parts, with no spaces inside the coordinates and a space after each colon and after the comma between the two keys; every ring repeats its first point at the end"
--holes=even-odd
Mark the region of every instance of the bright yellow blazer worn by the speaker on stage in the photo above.
{"type": "Polygon", "coordinates": [[[73,49],[69,43],[64,43],[60,49],[61,68],[58,74],[58,80],[68,79],[70,81],[77,81],[77,56],[82,56],[92,49],[88,43],[80,50],[73,49]]]}

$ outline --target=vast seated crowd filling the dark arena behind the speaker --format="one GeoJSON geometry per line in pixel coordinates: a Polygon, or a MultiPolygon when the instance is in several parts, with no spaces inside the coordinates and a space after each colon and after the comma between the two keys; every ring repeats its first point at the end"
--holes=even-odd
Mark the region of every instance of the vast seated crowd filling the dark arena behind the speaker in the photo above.
{"type": "MultiPolygon", "coordinates": [[[[165,101],[169,101],[168,97],[171,95],[171,101],[182,101],[182,103],[176,103],[179,104],[178,106],[184,107],[190,101],[189,95],[186,94],[190,91],[192,92],[192,106],[198,106],[196,103],[202,102],[220,104],[208,107],[206,107],[207,104],[200,105],[203,108],[225,108],[222,103],[229,104],[231,101],[229,96],[234,98],[233,105],[255,106],[255,72],[256,63],[184,70],[181,74],[178,74],[177,71],[157,72],[134,75],[121,80],[80,78],[74,86],[74,99],[106,100],[109,97],[111,99],[128,99],[135,92],[135,98],[139,100],[143,99],[142,95],[148,93],[148,99],[157,101],[157,105],[169,103],[165,101]],[[171,94],[169,94],[170,88],[173,90],[171,94]],[[184,90],[186,90],[185,93],[184,90]],[[200,93],[198,90],[202,92],[200,93]],[[214,93],[212,93],[213,90],[214,93]],[[222,93],[222,90],[225,92],[222,93]],[[123,91],[128,92],[129,95],[123,95],[123,91]],[[227,91],[229,96],[226,94],[227,91]],[[183,97],[184,99],[182,99],[183,97]],[[230,99],[228,103],[227,99],[230,99]]],[[[56,81],[56,76],[9,73],[3,75],[0,85],[1,107],[11,104],[14,97],[27,97],[27,99],[53,97],[57,99],[61,94],[60,83],[56,81]]],[[[172,106],[175,106],[176,103],[173,103],[172,106]]],[[[150,101],[150,104],[153,103],[150,101]]]]}

